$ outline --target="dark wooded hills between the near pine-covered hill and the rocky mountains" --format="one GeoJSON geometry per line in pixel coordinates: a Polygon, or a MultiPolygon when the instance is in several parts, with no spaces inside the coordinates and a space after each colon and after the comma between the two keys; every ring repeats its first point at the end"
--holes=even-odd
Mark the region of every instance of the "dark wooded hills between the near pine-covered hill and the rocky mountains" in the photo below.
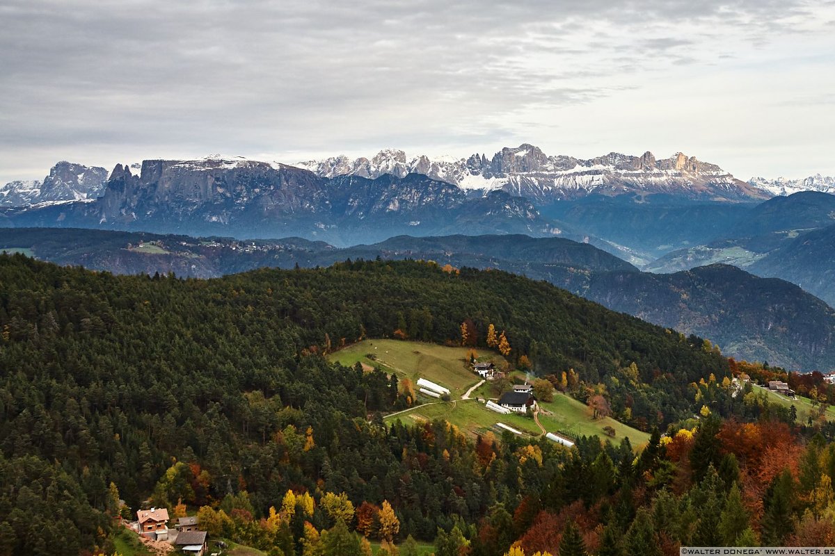
{"type": "Polygon", "coordinates": [[[174,272],[212,278],[253,268],[315,267],[377,257],[497,268],[547,280],[681,333],[701,334],[737,358],[802,370],[835,368],[835,312],[791,283],[757,278],[726,265],[641,273],[610,253],[564,238],[399,236],[342,249],[301,238],[243,241],[73,228],[11,229],[2,238],[0,248],[130,274],[174,272]]]}

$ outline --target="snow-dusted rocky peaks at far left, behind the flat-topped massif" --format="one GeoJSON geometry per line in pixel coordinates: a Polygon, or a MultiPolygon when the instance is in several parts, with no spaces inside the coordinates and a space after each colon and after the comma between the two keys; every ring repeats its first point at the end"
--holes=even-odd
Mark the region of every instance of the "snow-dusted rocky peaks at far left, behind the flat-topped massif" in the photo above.
{"type": "Polygon", "coordinates": [[[17,181],[0,187],[0,207],[24,207],[36,203],[83,201],[104,192],[107,170],[59,162],[43,181],[17,181]]]}

